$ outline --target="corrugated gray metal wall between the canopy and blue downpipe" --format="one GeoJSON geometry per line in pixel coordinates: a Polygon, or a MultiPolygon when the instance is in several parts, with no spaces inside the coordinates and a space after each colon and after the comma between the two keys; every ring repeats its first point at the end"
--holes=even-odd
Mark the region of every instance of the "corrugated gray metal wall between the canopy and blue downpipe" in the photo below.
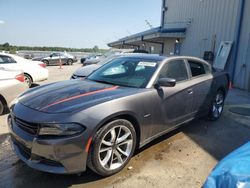
{"type": "Polygon", "coordinates": [[[168,11],[165,23],[187,22],[186,39],[181,54],[202,57],[211,50],[216,34],[216,49],[221,41],[234,39],[239,0],[166,0],[168,11]]]}

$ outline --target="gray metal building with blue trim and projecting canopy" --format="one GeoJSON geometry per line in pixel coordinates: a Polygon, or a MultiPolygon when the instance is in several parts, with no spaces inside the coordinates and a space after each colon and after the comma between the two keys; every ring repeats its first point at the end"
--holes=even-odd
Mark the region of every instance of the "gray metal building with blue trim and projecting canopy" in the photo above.
{"type": "Polygon", "coordinates": [[[163,0],[159,27],[108,45],[205,58],[250,91],[250,0],[163,0]]]}

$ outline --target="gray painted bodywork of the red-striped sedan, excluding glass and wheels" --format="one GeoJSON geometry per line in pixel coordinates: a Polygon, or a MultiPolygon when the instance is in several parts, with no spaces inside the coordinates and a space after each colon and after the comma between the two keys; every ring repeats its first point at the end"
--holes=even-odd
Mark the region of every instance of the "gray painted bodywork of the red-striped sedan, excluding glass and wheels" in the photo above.
{"type": "Polygon", "coordinates": [[[131,121],[132,118],[138,130],[138,144],[142,147],[183,123],[207,115],[218,89],[223,89],[225,95],[227,93],[228,77],[224,72],[191,76],[187,60],[207,64],[203,60],[192,57],[165,59],[154,55],[131,56],[144,57],[142,59],[154,60],[159,64],[146,88],[120,86],[107,93],[94,93],[111,86],[87,80],[71,80],[36,87],[21,95],[19,102],[11,107],[11,119],[8,119],[14,149],[21,160],[45,172],[79,173],[86,170],[88,141],[94,138],[95,142],[97,130],[110,120],[125,118],[131,121]],[[188,79],[177,82],[175,87],[154,88],[162,68],[175,60],[185,62],[188,79]],[[87,95],[82,96],[87,93],[89,98],[87,95]],[[81,98],[76,98],[79,95],[81,98]],[[186,100],[183,101],[184,98],[186,100]],[[50,99],[53,100],[48,101],[50,99]],[[52,101],[57,102],[53,106],[43,107],[52,101]],[[85,130],[67,137],[38,136],[38,128],[43,124],[69,122],[83,125],[85,130]],[[30,129],[36,129],[36,132],[30,134],[27,131],[30,129]]]}

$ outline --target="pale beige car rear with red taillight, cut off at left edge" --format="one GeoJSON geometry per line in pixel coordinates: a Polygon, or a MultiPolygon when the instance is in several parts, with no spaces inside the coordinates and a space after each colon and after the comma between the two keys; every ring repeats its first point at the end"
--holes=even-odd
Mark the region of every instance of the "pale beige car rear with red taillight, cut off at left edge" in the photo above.
{"type": "Polygon", "coordinates": [[[10,102],[27,88],[22,71],[0,67],[0,115],[6,112],[10,102]]]}

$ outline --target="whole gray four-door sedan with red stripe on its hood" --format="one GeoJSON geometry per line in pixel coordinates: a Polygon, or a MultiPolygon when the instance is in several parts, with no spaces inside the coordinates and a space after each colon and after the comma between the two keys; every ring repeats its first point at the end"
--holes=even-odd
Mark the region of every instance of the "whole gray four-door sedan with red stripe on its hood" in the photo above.
{"type": "Polygon", "coordinates": [[[110,176],[135,149],[198,117],[221,117],[225,72],[204,60],[132,54],[86,79],[38,86],[11,107],[14,151],[30,167],[60,174],[87,166],[110,176]]]}

